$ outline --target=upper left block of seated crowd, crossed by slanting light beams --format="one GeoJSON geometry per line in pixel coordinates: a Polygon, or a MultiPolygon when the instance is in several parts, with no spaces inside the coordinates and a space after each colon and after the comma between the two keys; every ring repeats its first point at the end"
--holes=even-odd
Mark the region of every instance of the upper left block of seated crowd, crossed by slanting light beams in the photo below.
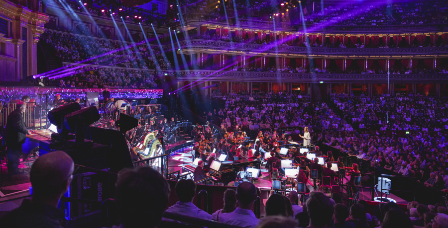
{"type": "Polygon", "coordinates": [[[39,38],[62,62],[122,68],[168,70],[171,63],[158,48],[128,45],[115,40],[45,31],[39,38]],[[151,53],[152,51],[152,53],[151,53]]]}

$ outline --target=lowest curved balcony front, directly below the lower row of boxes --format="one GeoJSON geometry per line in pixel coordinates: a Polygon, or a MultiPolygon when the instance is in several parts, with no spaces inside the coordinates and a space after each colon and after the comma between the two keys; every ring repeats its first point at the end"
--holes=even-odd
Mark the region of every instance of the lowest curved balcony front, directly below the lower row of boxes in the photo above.
{"type": "Polygon", "coordinates": [[[446,83],[446,74],[311,74],[240,71],[158,71],[157,74],[176,76],[179,81],[253,81],[253,82],[315,82],[324,83],[446,83]]]}

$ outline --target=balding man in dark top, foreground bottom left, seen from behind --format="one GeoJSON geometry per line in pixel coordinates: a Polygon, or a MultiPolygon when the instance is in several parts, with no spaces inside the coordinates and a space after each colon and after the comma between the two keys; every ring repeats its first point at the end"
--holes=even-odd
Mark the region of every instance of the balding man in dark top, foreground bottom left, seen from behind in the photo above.
{"type": "Polygon", "coordinates": [[[62,228],[65,213],[59,210],[61,197],[69,189],[75,166],[65,152],[55,151],[37,158],[29,178],[33,194],[20,207],[0,219],[8,228],[62,228]]]}

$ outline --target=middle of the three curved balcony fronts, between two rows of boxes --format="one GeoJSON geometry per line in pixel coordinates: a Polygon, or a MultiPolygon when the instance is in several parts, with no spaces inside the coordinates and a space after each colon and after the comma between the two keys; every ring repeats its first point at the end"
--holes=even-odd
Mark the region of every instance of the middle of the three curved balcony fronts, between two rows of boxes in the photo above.
{"type": "MultiPolygon", "coordinates": [[[[448,47],[427,48],[325,48],[325,47],[298,47],[298,46],[274,46],[263,44],[235,43],[216,40],[184,40],[180,41],[182,49],[214,49],[223,51],[245,52],[246,54],[292,54],[292,55],[362,55],[362,56],[391,56],[391,55],[446,55],[448,47]]],[[[168,45],[169,49],[171,45],[168,45]]],[[[175,48],[179,48],[177,43],[175,48]]],[[[167,46],[165,46],[167,48],[167,46]]],[[[167,49],[168,50],[168,49],[167,49]]],[[[242,54],[242,53],[239,53],[242,54]]]]}

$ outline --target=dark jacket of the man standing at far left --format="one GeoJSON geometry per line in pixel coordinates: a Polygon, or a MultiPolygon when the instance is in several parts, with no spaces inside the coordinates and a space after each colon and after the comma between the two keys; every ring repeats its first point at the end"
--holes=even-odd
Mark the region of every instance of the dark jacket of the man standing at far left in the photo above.
{"type": "Polygon", "coordinates": [[[5,138],[6,145],[18,145],[25,143],[26,130],[25,119],[19,110],[12,111],[6,121],[5,138]]]}

